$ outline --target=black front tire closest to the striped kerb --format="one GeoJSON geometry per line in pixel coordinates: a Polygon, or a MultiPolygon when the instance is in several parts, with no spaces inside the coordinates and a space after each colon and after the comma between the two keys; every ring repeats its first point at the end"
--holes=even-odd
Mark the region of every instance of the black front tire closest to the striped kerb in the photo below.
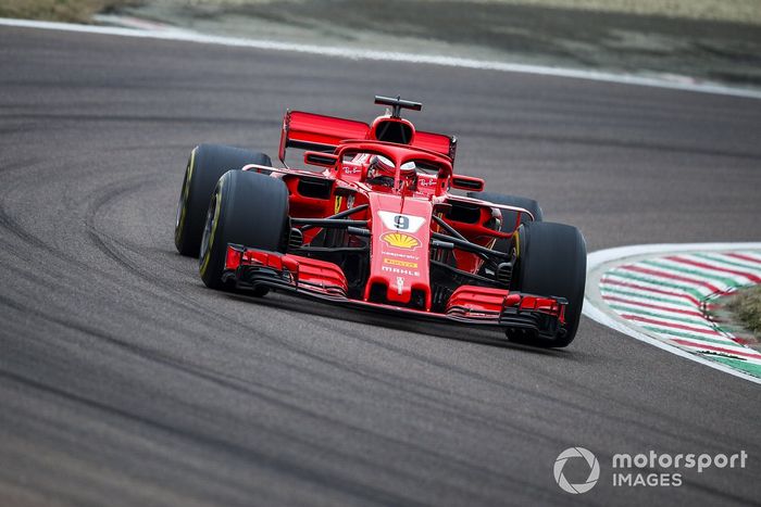
{"type": "Polygon", "coordinates": [[[584,304],[587,246],[582,232],[563,224],[528,223],[519,230],[516,289],[526,294],[565,297],[566,333],[544,340],[508,332],[515,342],[563,347],[576,337],[584,304]]]}

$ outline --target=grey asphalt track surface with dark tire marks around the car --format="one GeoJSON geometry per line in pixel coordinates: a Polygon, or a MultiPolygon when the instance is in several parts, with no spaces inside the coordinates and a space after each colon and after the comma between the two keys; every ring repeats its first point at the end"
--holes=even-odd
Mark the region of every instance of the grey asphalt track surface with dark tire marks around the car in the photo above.
{"type": "Polygon", "coordinates": [[[758,240],[761,102],[7,27],[0,68],[0,505],[759,504],[756,384],[586,318],[540,351],[213,292],[172,236],[196,143],[274,154],[286,107],[401,93],[590,251],[758,240]],[[602,474],[573,496],[577,445],[602,474]],[[750,458],[613,487],[649,449],[750,458]]]}

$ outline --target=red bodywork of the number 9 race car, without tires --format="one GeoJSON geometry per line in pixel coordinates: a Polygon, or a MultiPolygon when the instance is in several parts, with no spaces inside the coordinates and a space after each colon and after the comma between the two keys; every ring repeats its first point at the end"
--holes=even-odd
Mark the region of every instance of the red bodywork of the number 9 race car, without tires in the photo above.
{"type": "MultiPolygon", "coordinates": [[[[521,294],[496,281],[486,287],[485,256],[474,249],[490,249],[498,238],[511,240],[521,217],[534,217],[524,208],[450,193],[452,187],[484,187],[479,178],[454,175],[453,137],[416,131],[390,114],[367,125],[288,112],[279,149],[284,164],[288,148],[308,150],[304,161],[324,170],[260,165],[244,170],[270,174],[287,186],[289,249],[279,253],[230,244],[223,278],[242,288],[261,284],[416,317],[563,332],[564,300],[521,294]],[[385,162],[385,180],[378,160],[385,162]],[[507,232],[499,230],[500,208],[515,212],[514,226],[502,228],[507,232]],[[341,216],[349,210],[354,212],[341,216]],[[342,229],[299,227],[336,215],[353,221],[342,229]],[[452,230],[471,246],[448,241],[452,230]]],[[[514,258],[506,253],[503,261],[509,265],[514,258]]]]}

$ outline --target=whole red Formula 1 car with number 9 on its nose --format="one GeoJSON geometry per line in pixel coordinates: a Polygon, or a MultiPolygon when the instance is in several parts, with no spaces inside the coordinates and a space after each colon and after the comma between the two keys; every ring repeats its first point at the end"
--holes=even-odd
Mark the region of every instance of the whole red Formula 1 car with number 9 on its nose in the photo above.
{"type": "Polygon", "coordinates": [[[371,125],[287,112],[284,168],[238,148],[192,150],[175,244],[200,255],[203,282],[571,343],[586,274],[578,229],[542,221],[536,201],[486,193],[483,179],[454,174],[454,138],[401,117],[422,104],[375,103],[388,109],[371,125]],[[288,167],[288,148],[319,169],[288,167]]]}

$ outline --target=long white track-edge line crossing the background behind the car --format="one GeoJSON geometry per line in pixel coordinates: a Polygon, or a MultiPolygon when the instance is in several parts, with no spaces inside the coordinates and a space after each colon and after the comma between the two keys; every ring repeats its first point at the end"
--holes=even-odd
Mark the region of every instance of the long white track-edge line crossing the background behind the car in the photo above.
{"type": "Polygon", "coordinates": [[[207,45],[264,49],[272,51],[292,51],[300,53],[319,54],[321,56],[347,58],[352,60],[407,62],[472,68],[477,71],[498,71],[521,74],[536,74],[542,76],[570,77],[575,79],[588,79],[603,83],[615,83],[621,85],[636,85],[652,88],[665,88],[671,90],[695,91],[701,93],[741,97],[747,99],[761,99],[761,91],[759,90],[752,90],[747,88],[733,88],[709,81],[697,81],[694,78],[686,76],[677,76],[674,79],[666,79],[662,77],[648,77],[632,74],[613,74],[597,71],[582,71],[542,65],[524,65],[519,63],[453,58],[436,54],[414,54],[395,51],[363,50],[332,46],[276,42],[272,40],[260,39],[244,39],[238,37],[203,35],[198,34],[196,31],[178,28],[157,27],[155,29],[134,29],[113,26],[93,26],[43,21],[12,20],[3,17],[0,17],[0,26],[78,31],[85,34],[115,35],[121,37],[137,37],[148,39],[177,40],[207,45]]]}

